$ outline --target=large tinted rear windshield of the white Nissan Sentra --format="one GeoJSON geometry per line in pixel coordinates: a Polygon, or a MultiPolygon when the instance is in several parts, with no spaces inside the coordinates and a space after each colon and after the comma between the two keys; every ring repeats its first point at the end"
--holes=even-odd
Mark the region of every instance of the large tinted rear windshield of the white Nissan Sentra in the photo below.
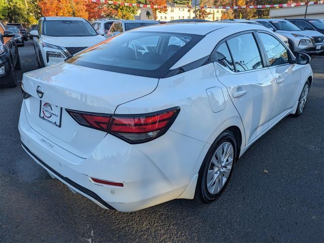
{"type": "Polygon", "coordinates": [[[203,37],[167,32],[124,32],[80,52],[66,62],[159,78],[203,37]]]}

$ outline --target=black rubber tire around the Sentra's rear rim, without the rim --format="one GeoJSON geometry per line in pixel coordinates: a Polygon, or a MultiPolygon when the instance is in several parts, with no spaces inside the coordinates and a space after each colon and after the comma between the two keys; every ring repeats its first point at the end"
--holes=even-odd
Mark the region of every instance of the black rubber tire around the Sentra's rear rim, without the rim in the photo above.
{"type": "Polygon", "coordinates": [[[195,192],[195,199],[202,202],[202,203],[211,203],[212,201],[214,201],[215,199],[217,199],[222,192],[224,191],[224,189],[226,188],[233,169],[234,169],[234,164],[236,161],[236,157],[237,157],[237,146],[236,146],[236,141],[235,141],[235,137],[233,135],[232,132],[226,130],[224,132],[222,132],[217,139],[215,140],[215,142],[212,144],[211,148],[209,149],[208,153],[205,156],[205,159],[203,161],[203,164],[200,167],[199,173],[198,173],[198,180],[197,180],[197,186],[196,186],[196,192],[195,192]],[[206,183],[206,177],[207,177],[207,171],[208,171],[208,166],[210,163],[210,160],[214,154],[214,152],[216,151],[216,149],[219,147],[219,145],[221,145],[224,142],[230,142],[233,146],[234,149],[234,157],[233,157],[233,165],[232,165],[232,170],[229,174],[229,177],[227,179],[227,181],[225,182],[223,188],[216,194],[211,194],[209,193],[208,189],[207,189],[207,183],[206,183]]]}

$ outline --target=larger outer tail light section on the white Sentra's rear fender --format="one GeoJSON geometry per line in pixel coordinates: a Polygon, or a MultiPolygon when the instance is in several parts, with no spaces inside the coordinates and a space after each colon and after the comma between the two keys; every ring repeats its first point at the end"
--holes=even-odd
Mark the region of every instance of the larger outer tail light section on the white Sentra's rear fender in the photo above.
{"type": "Polygon", "coordinates": [[[165,134],[176,119],[180,107],[154,113],[113,115],[108,132],[129,143],[143,143],[165,134]]]}

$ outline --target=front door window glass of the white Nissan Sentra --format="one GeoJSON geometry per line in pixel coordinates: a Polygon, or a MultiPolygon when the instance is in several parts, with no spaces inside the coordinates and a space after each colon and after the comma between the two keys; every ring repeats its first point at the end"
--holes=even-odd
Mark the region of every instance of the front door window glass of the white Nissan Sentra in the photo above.
{"type": "Polygon", "coordinates": [[[259,33],[265,47],[270,66],[277,66],[289,63],[287,49],[276,38],[266,33],[259,33]]]}

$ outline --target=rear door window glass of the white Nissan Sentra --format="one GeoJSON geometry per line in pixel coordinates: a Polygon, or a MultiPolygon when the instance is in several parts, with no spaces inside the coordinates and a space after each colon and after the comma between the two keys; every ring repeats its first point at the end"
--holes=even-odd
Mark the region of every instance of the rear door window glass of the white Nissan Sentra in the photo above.
{"type": "Polygon", "coordinates": [[[262,68],[258,46],[252,33],[241,34],[227,41],[237,72],[262,68]]]}

